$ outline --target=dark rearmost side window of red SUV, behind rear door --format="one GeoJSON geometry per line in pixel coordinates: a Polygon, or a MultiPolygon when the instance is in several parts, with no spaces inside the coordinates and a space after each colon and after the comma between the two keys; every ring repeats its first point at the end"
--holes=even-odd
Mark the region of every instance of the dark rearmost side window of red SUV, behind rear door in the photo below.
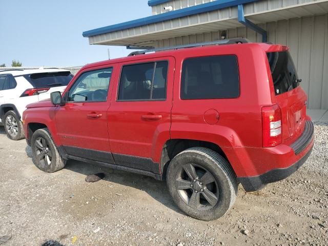
{"type": "Polygon", "coordinates": [[[181,99],[218,99],[238,96],[237,56],[205,56],[183,61],[181,99]]]}

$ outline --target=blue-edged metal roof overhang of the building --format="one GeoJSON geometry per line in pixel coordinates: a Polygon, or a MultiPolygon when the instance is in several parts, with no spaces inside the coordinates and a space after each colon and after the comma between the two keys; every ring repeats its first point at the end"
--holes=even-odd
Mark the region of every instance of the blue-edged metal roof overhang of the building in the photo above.
{"type": "Polygon", "coordinates": [[[154,46],[157,40],[242,27],[238,22],[239,4],[244,5],[244,16],[255,24],[328,13],[328,0],[271,8],[268,4],[263,8],[262,2],[265,1],[214,1],[90,30],[83,35],[89,37],[90,44],[146,47],[154,46]]]}

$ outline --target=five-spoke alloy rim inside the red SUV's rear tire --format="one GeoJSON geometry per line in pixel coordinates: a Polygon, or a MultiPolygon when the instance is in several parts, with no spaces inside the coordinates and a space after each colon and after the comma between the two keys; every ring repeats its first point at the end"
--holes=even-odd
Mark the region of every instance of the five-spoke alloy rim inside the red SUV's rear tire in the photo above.
{"type": "Polygon", "coordinates": [[[175,187],[180,198],[193,209],[212,209],[220,199],[214,176],[207,169],[188,163],[175,177],[175,187]]]}

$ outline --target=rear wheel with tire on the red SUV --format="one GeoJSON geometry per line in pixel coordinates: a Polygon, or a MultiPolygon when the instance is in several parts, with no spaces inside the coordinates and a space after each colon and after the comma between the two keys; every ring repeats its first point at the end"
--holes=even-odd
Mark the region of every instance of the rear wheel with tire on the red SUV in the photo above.
{"type": "Polygon", "coordinates": [[[237,180],[229,162],[201,147],[182,151],[171,160],[167,185],[183,212],[206,221],[223,216],[237,196],[237,180]]]}

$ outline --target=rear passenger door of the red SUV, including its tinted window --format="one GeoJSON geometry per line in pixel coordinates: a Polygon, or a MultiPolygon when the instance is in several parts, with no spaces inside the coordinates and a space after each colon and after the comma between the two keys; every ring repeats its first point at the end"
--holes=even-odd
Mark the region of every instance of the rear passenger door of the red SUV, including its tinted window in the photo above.
{"type": "Polygon", "coordinates": [[[120,66],[108,113],[115,163],[158,173],[154,152],[170,138],[175,60],[160,57],[120,66]]]}

